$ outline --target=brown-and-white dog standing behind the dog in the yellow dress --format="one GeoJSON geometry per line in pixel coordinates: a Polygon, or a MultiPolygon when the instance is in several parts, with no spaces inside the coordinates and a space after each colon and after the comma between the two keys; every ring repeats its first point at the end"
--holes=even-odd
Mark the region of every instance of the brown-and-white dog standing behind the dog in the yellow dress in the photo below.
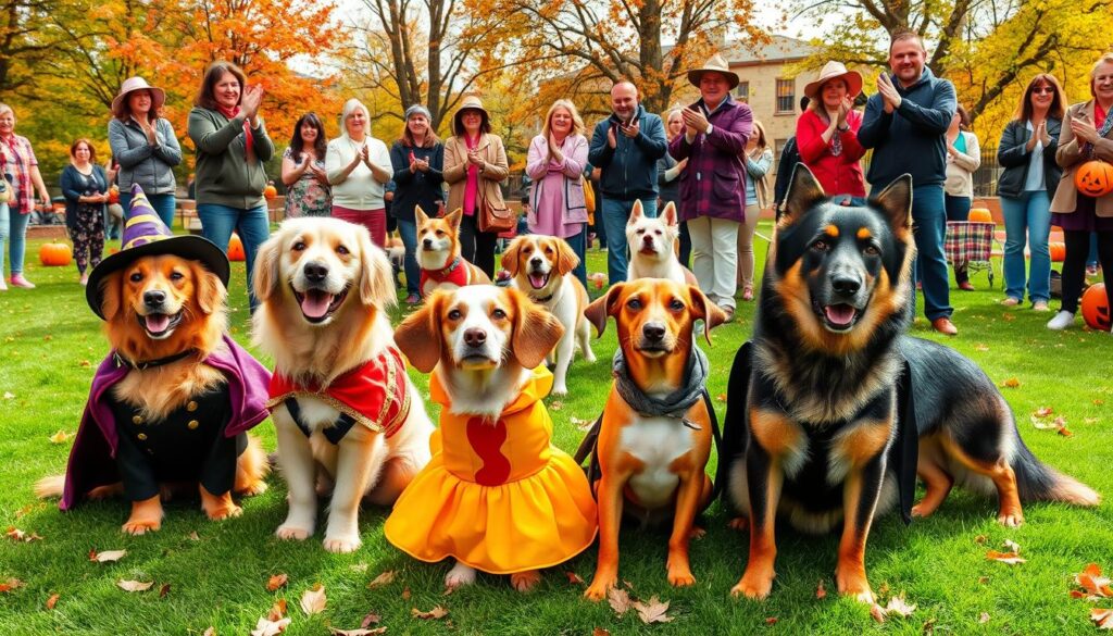
{"type": "Polygon", "coordinates": [[[579,264],[580,257],[572,247],[553,236],[519,236],[502,254],[502,266],[510,272],[513,285],[549,310],[564,326],[564,335],[553,351],[553,395],[568,394],[568,368],[572,364],[577,345],[584,360],[595,361],[591,351],[591,324],[583,316],[588,306],[588,290],[572,274],[579,264]]]}

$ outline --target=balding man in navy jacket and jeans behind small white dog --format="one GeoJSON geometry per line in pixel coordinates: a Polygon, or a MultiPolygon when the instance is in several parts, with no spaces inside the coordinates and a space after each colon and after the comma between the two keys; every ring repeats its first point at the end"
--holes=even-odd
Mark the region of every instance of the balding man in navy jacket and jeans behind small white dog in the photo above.
{"type": "Polygon", "coordinates": [[[629,81],[611,88],[613,112],[595,126],[588,162],[600,168],[603,227],[607,231],[607,277],[626,281],[626,224],[640,200],[647,216],[657,216],[657,160],[668,141],[661,118],[638,104],[638,88],[629,81]]]}

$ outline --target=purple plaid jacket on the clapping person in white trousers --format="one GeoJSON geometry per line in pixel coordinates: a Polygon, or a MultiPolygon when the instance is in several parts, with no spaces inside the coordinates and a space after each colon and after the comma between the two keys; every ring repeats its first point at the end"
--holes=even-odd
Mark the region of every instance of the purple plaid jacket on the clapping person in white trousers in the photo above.
{"type": "MultiPolygon", "coordinates": [[[[700,99],[690,108],[707,115],[700,99]]],[[[688,159],[680,173],[680,211],[683,221],[700,216],[742,222],[746,217],[746,141],[754,129],[754,114],[746,104],[729,95],[708,116],[710,134],[698,134],[689,144],[677,135],[669,154],[678,162],[688,159]]]]}

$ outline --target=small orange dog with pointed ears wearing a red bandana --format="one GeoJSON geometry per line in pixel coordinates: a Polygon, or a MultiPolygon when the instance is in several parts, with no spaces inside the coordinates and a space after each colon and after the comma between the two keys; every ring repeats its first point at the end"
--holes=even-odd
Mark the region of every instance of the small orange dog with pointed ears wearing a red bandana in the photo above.
{"type": "Polygon", "coordinates": [[[491,277],[460,255],[460,221],[464,212],[444,217],[429,216],[418,205],[414,209],[417,221],[417,265],[421,267],[422,297],[435,290],[455,290],[466,285],[487,285],[491,277]]]}

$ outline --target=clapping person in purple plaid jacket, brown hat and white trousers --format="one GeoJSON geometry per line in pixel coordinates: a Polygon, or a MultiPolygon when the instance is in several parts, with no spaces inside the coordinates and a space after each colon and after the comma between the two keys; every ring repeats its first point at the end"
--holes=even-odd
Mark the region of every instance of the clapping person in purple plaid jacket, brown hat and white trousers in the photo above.
{"type": "Polygon", "coordinates": [[[669,154],[678,162],[688,159],[680,175],[680,209],[691,235],[692,271],[730,320],[738,290],[738,227],[746,209],[743,153],[754,114],[730,97],[738,75],[718,55],[688,71],[688,81],[701,97],[681,111],[684,134],[669,144],[669,154]]]}

